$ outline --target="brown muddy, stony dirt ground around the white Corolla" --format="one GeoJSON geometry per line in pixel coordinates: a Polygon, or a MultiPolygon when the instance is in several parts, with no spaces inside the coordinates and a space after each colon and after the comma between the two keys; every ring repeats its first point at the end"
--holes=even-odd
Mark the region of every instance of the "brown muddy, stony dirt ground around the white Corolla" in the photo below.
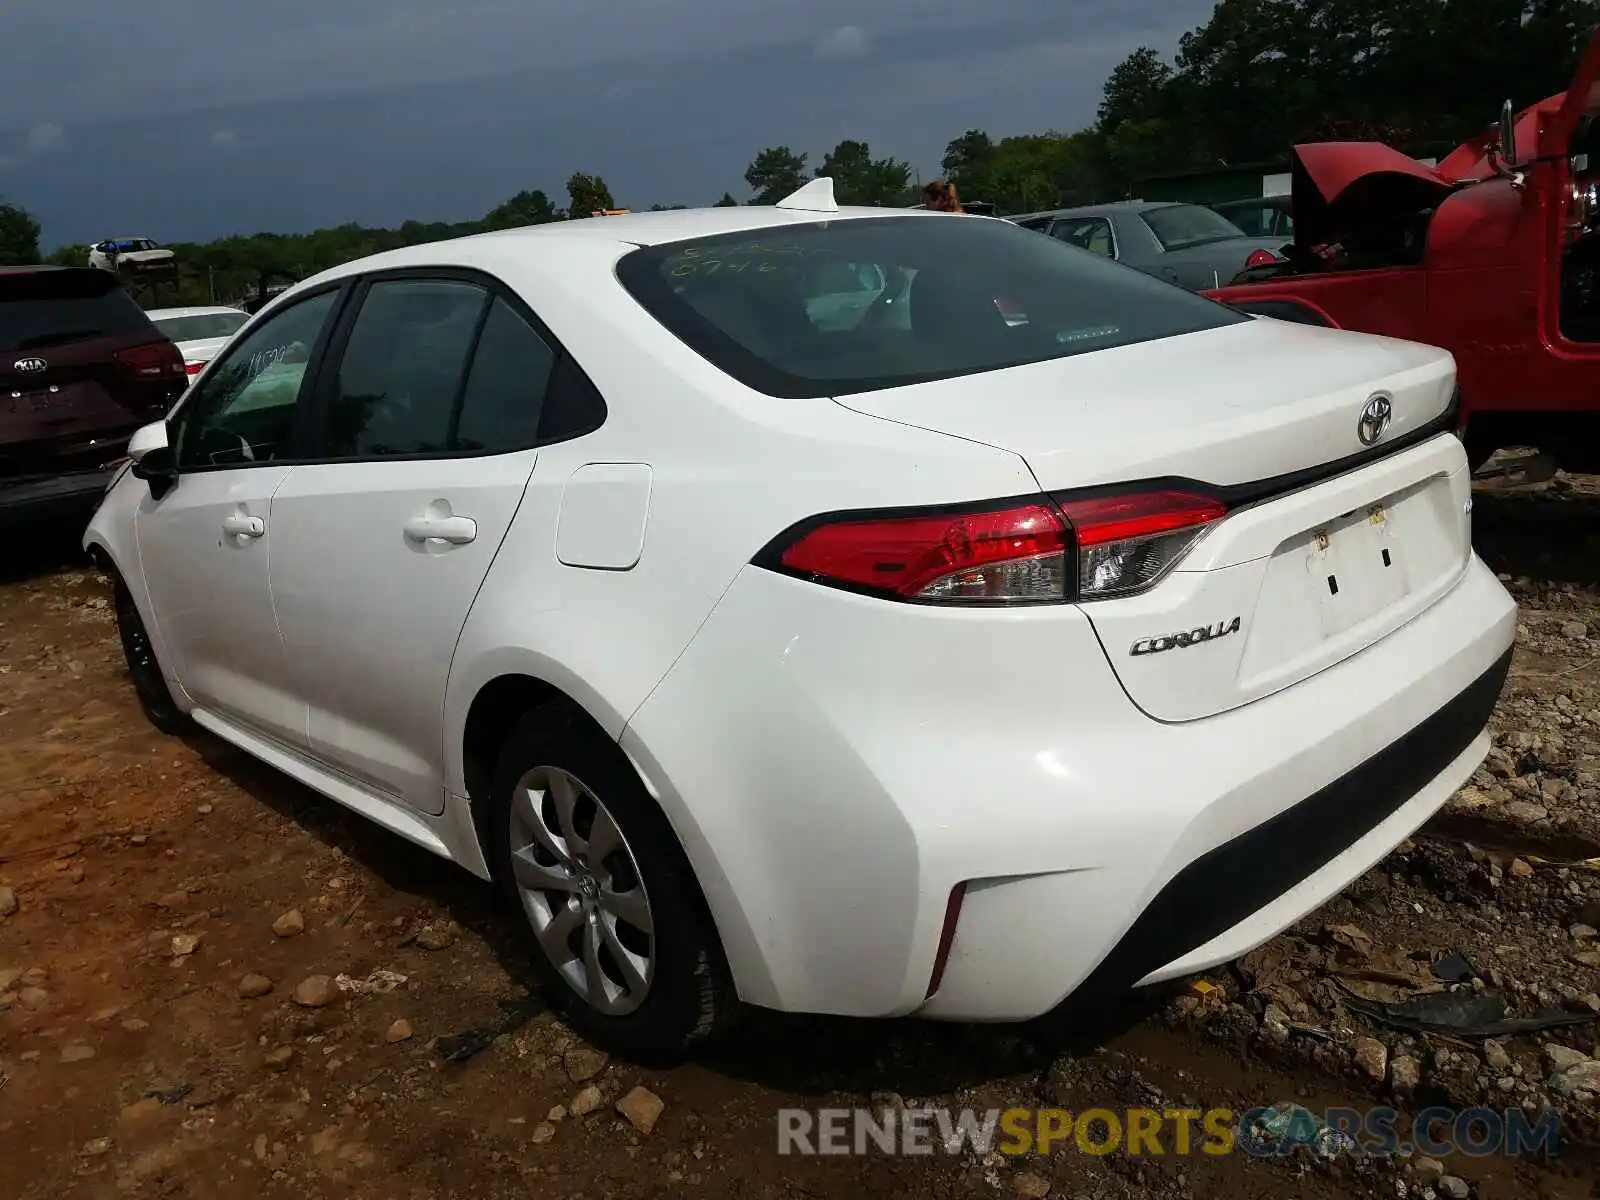
{"type": "Polygon", "coordinates": [[[0,1197],[1600,1195],[1600,486],[1485,486],[1475,520],[1523,605],[1494,755],[1323,912],[1110,1011],[760,1014],[674,1069],[606,1062],[541,1011],[486,886],[157,734],[107,587],[45,531],[0,563],[0,1197]],[[1566,1024],[1486,1038],[1376,1008],[1418,995],[1566,1024]],[[664,1104],[645,1131],[616,1107],[637,1086],[664,1104]],[[1565,1149],[795,1157],[776,1133],[782,1107],[1285,1101],[1549,1110],[1565,1149]]]}

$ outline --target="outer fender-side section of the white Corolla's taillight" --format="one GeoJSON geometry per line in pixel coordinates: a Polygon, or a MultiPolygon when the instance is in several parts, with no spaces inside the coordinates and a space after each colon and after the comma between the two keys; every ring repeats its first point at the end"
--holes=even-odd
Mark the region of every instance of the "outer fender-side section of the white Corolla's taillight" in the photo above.
{"type": "Polygon", "coordinates": [[[1038,502],[829,522],[784,547],[778,565],[906,600],[1037,603],[1067,598],[1069,546],[1059,514],[1038,502]]]}

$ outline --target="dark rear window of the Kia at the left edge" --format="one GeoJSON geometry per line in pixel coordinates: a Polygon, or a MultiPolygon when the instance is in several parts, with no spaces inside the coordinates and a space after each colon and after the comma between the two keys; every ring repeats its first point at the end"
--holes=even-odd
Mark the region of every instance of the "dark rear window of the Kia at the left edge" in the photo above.
{"type": "Polygon", "coordinates": [[[144,309],[104,270],[0,274],[0,350],[46,346],[146,330],[144,309]]]}

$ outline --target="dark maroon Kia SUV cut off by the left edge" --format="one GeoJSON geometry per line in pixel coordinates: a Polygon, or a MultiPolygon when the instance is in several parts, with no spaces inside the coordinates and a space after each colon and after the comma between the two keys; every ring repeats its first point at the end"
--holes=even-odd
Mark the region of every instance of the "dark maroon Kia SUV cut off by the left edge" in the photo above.
{"type": "Polygon", "coordinates": [[[128,435],[186,386],[178,347],[115,275],[0,267],[0,525],[86,518],[128,435]]]}

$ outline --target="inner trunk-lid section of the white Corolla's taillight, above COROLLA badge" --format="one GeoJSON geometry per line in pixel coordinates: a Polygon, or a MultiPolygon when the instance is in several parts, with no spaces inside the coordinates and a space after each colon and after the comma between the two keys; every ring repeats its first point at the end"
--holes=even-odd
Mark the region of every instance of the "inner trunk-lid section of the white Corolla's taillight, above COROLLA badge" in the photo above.
{"type": "Polygon", "coordinates": [[[1066,499],[1078,546],[1077,595],[1104,600],[1154,587],[1227,506],[1189,491],[1066,499]]]}

